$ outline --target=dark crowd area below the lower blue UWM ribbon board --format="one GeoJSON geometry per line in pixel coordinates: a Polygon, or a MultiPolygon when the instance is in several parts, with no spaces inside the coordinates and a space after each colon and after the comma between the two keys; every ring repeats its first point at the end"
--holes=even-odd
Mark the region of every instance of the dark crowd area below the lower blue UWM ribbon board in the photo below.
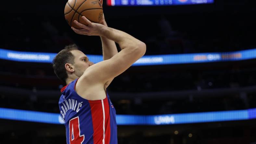
{"type": "MultiPolygon", "coordinates": [[[[7,122],[7,121],[2,121],[7,122]]],[[[7,122],[8,124],[17,124],[7,122]]],[[[66,143],[61,125],[20,122],[22,132],[12,130],[2,134],[1,143],[66,143]],[[26,136],[31,136],[27,138],[26,136]],[[11,141],[10,141],[11,140],[11,141]]],[[[253,122],[238,121],[235,127],[225,123],[190,124],[183,126],[118,126],[120,144],[255,144],[253,122]]]]}

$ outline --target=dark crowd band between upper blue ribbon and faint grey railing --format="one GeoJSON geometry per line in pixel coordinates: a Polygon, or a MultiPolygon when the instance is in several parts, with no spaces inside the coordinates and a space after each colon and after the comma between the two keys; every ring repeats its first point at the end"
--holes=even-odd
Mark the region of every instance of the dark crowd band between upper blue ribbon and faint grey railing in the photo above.
{"type": "MultiPolygon", "coordinates": [[[[51,64],[6,62],[0,71],[1,85],[59,90],[65,83],[51,64]],[[35,83],[36,81],[40,83],[35,83]]],[[[202,64],[132,66],[109,86],[112,92],[160,92],[255,86],[255,60],[202,64]]]]}

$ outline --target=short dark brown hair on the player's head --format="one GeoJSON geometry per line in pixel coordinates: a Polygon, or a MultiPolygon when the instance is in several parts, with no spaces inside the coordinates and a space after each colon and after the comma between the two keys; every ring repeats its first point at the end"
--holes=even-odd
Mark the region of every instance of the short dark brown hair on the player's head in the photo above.
{"type": "Polygon", "coordinates": [[[68,78],[65,64],[74,64],[74,55],[70,52],[72,50],[79,50],[79,47],[76,44],[65,46],[65,48],[61,50],[52,61],[54,73],[64,83],[66,83],[66,79],[68,78]]]}

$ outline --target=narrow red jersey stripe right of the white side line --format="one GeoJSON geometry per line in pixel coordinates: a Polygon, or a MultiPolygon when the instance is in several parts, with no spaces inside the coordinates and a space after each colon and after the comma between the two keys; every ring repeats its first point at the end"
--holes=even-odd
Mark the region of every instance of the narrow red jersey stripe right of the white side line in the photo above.
{"type": "Polygon", "coordinates": [[[109,144],[110,141],[110,116],[109,116],[109,101],[108,96],[106,96],[107,101],[104,101],[105,109],[105,144],[109,144]]]}

